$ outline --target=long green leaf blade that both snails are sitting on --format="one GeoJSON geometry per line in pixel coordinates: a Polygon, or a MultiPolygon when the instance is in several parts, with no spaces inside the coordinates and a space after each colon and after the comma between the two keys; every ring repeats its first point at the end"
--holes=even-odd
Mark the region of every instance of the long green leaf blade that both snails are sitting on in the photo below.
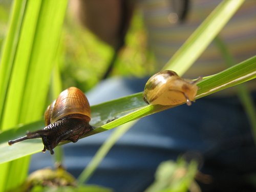
{"type": "MultiPolygon", "coordinates": [[[[247,59],[238,65],[228,68],[227,70],[218,74],[204,78],[198,83],[200,89],[196,99],[232,86],[236,86],[237,84],[254,78],[256,78],[256,56],[251,57],[250,59],[247,59]]],[[[94,105],[92,106],[91,124],[97,128],[84,137],[113,129],[114,127],[123,123],[173,107],[174,106],[146,105],[142,99],[141,92],[120,99],[94,105]],[[111,119],[109,114],[113,114],[111,119]],[[115,120],[109,122],[112,119],[115,120]]],[[[24,135],[27,130],[35,131],[42,129],[42,124],[43,120],[35,124],[20,126],[17,130],[17,133],[6,131],[0,134],[0,163],[41,151],[43,145],[40,139],[23,141],[13,146],[8,146],[7,142],[10,139],[24,135]]]]}

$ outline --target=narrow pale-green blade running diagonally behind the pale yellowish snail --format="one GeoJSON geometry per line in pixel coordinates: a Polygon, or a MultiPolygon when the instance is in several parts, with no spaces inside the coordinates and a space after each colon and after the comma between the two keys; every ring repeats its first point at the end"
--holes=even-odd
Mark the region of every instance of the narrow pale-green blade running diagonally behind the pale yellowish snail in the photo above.
{"type": "MultiPolygon", "coordinates": [[[[216,23],[216,20],[218,20],[218,19],[221,19],[221,22],[223,22],[223,20],[225,20],[225,22],[227,22],[228,19],[230,18],[230,15],[234,14],[234,11],[239,7],[239,5],[241,5],[240,4],[241,2],[237,2],[237,3],[238,3],[237,6],[233,7],[233,9],[229,9],[229,14],[225,14],[225,15],[222,14],[223,11],[221,11],[221,10],[224,10],[225,8],[229,7],[229,4],[220,4],[220,6],[217,7],[215,9],[215,11],[199,27],[199,29],[201,28],[202,30],[199,32],[196,31],[194,34],[192,34],[190,39],[187,41],[187,44],[184,44],[181,47],[181,49],[178,50],[178,52],[176,53],[176,58],[180,57],[180,58],[184,59],[184,58],[186,58],[186,55],[189,55],[189,53],[192,54],[195,57],[195,59],[198,58],[200,56],[200,54],[202,53],[202,51],[211,42],[212,37],[214,35],[216,35],[218,33],[218,31],[221,30],[221,26],[220,26],[220,28],[215,28],[215,30],[211,31],[212,35],[208,38],[208,36],[205,36],[205,34],[208,35],[207,28],[210,27],[210,25],[212,25],[212,23],[214,23],[214,22],[216,23]],[[223,18],[223,17],[225,17],[225,18],[223,18]],[[208,41],[205,41],[205,39],[207,39],[208,41]],[[200,45],[200,46],[204,45],[204,47],[201,47],[203,49],[190,49],[190,48],[195,47],[196,45],[200,45]]],[[[222,25],[222,26],[224,26],[224,25],[222,25]]],[[[172,65],[174,65],[174,63],[175,63],[174,61],[175,61],[175,59],[173,59],[173,60],[171,59],[170,62],[167,63],[168,66],[165,66],[165,68],[172,69],[172,65]]],[[[182,61],[182,65],[179,65],[179,71],[177,71],[177,72],[180,75],[182,75],[191,66],[192,62],[189,62],[189,61],[190,60],[186,59],[186,60],[184,60],[184,62],[182,61]]],[[[249,105],[249,104],[247,104],[247,105],[249,105]]],[[[136,122],[136,120],[133,122],[136,122]]],[[[118,136],[120,137],[122,134],[124,134],[128,130],[126,124],[124,124],[124,127],[122,127],[123,130],[118,129],[115,132],[113,132],[113,134],[102,144],[102,146],[99,148],[99,150],[97,151],[97,153],[95,154],[93,159],[90,161],[88,166],[80,174],[80,176],[78,178],[78,182],[80,184],[84,183],[85,181],[87,181],[90,178],[90,176],[93,174],[93,172],[97,168],[100,161],[103,159],[104,155],[106,155],[106,153],[110,150],[111,146],[114,145],[114,143],[117,140],[115,135],[118,134],[118,136]],[[121,133],[119,133],[119,130],[121,133]]]]}

